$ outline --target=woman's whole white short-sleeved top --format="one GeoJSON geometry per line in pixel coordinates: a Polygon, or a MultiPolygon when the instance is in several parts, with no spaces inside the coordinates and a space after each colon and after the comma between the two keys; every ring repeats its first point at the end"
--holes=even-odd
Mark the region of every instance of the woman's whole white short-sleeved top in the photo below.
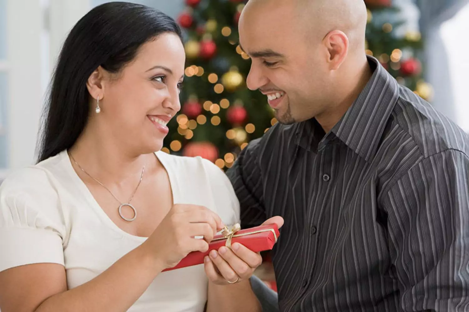
{"type": "MultiPolygon", "coordinates": [[[[169,175],[174,203],[203,205],[227,225],[239,222],[239,202],[218,167],[199,157],[155,154],[169,175]]],[[[145,239],[113,223],[76,174],[66,151],[10,174],[0,186],[0,271],[59,263],[72,289],[145,239]]],[[[204,311],[207,286],[203,264],[160,273],[129,311],[204,311]]]]}

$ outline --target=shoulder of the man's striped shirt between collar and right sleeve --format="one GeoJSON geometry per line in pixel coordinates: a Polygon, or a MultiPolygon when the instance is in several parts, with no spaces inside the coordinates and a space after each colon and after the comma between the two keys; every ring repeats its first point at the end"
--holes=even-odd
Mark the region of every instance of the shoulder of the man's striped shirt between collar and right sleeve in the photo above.
{"type": "Polygon", "coordinates": [[[401,87],[392,115],[422,158],[447,150],[469,155],[468,134],[408,88],[401,87]]]}

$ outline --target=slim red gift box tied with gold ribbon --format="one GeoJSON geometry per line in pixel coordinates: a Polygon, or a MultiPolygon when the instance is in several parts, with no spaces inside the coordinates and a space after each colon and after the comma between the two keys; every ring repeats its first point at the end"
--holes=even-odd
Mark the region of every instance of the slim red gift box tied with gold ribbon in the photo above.
{"type": "Polygon", "coordinates": [[[271,250],[279,236],[280,232],[276,224],[260,225],[244,230],[239,230],[239,225],[235,225],[231,230],[225,228],[221,234],[215,235],[213,240],[209,243],[209,249],[206,252],[192,252],[173,268],[166,268],[163,272],[202,264],[204,263],[204,257],[208,255],[211,250],[218,250],[222,246],[231,247],[233,243],[240,243],[256,253],[271,250]]]}

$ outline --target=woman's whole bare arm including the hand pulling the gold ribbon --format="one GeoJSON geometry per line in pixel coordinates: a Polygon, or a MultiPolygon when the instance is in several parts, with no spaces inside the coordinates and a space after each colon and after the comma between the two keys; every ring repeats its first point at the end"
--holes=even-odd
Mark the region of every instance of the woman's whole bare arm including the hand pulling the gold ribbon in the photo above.
{"type": "Polygon", "coordinates": [[[2,312],[127,311],[164,268],[173,267],[189,252],[207,251],[207,241],[221,227],[221,220],[211,210],[176,204],[142,245],[74,289],[67,290],[65,269],[59,264],[29,264],[0,272],[0,309],[2,312]],[[204,236],[207,241],[195,236],[204,236]]]}

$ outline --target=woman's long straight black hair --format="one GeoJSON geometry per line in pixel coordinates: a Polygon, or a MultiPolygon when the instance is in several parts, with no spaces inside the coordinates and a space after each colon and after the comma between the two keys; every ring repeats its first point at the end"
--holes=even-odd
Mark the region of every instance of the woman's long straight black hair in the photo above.
{"type": "Polygon", "coordinates": [[[164,13],[128,2],[109,2],[84,15],[68,34],[47,98],[38,161],[75,144],[88,116],[86,82],[98,66],[119,73],[138,48],[156,36],[172,32],[182,40],[177,23],[164,13]]]}

